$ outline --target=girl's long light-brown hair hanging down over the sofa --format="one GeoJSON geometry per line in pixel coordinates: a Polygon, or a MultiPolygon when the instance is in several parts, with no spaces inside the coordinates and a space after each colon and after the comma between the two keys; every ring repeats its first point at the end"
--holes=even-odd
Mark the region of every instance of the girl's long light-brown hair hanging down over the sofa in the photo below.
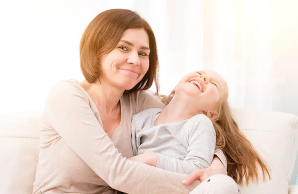
{"type": "MultiPolygon", "coordinates": [[[[157,97],[167,105],[175,93],[169,96],[158,95],[157,97]]],[[[217,118],[211,119],[216,131],[216,149],[223,150],[227,159],[227,175],[237,184],[243,184],[245,177],[246,185],[250,181],[258,182],[258,167],[263,173],[263,181],[266,174],[271,179],[269,169],[262,157],[254,149],[250,141],[240,131],[237,123],[232,118],[227,97],[220,100],[217,118]]]]}

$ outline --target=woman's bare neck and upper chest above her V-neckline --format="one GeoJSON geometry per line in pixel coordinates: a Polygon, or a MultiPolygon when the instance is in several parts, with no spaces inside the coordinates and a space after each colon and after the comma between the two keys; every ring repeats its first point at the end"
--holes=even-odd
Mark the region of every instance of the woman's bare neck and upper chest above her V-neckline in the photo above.
{"type": "Polygon", "coordinates": [[[124,90],[99,82],[90,84],[87,81],[83,81],[81,86],[91,97],[97,108],[100,109],[100,112],[105,114],[109,114],[117,108],[119,100],[124,93],[124,90]]]}

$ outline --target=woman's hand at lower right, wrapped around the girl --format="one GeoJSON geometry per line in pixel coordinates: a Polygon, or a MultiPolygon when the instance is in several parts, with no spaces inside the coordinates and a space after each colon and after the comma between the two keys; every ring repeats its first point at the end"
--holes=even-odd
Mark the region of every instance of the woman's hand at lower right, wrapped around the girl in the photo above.
{"type": "Polygon", "coordinates": [[[203,182],[208,177],[217,174],[227,175],[227,172],[221,160],[215,156],[209,168],[195,170],[182,181],[182,184],[189,185],[196,179],[203,182]]]}

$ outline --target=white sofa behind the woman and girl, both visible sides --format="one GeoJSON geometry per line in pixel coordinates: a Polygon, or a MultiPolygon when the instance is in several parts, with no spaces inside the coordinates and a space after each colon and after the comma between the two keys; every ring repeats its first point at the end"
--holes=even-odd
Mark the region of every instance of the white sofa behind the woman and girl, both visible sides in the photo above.
{"type": "MultiPolygon", "coordinates": [[[[240,129],[272,169],[272,180],[241,187],[243,194],[298,194],[290,186],[298,150],[298,117],[232,108],[240,129]]],[[[39,153],[41,111],[0,115],[0,194],[31,194],[39,153]]]]}

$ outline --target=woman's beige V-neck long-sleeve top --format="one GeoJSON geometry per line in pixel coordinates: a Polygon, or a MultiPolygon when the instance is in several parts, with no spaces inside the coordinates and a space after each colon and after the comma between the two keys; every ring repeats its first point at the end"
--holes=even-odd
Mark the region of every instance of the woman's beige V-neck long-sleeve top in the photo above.
{"type": "MultiPolygon", "coordinates": [[[[133,156],[132,115],[164,105],[146,92],[125,93],[120,104],[120,125],[110,139],[96,105],[76,80],[52,88],[43,113],[33,194],[187,194],[199,184],[183,186],[186,175],[126,159],[133,156]]],[[[216,150],[216,155],[226,166],[224,154],[216,150]]]]}

